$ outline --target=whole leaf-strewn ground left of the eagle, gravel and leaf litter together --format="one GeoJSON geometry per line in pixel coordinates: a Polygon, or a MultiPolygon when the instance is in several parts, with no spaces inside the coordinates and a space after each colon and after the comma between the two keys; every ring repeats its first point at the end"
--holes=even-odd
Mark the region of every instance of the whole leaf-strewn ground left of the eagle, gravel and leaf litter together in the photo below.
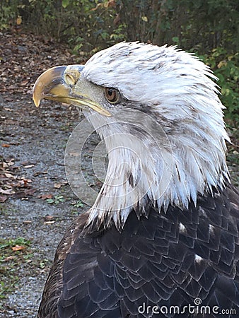
{"type": "Polygon", "coordinates": [[[56,43],[11,33],[1,34],[0,58],[0,317],[31,318],[63,233],[88,209],[64,172],[81,114],[50,102],[37,109],[31,90],[45,69],[76,61],[56,43]]]}

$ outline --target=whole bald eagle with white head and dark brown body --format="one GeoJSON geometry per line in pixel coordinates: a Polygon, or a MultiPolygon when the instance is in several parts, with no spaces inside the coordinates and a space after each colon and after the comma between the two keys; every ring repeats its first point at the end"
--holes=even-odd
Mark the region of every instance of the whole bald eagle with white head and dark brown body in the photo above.
{"type": "Polygon", "coordinates": [[[239,196],[212,79],[192,54],[139,42],[37,79],[35,105],[79,107],[108,153],[95,203],[59,243],[38,317],[238,317],[239,196]]]}

